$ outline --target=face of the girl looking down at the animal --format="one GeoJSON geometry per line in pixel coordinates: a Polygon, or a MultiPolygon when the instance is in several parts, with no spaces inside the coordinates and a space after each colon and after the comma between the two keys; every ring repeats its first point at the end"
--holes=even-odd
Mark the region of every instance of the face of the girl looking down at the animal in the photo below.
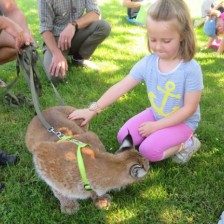
{"type": "Polygon", "coordinates": [[[150,49],[161,59],[173,60],[179,57],[181,37],[175,28],[177,21],[155,21],[148,16],[147,22],[150,49]]]}

